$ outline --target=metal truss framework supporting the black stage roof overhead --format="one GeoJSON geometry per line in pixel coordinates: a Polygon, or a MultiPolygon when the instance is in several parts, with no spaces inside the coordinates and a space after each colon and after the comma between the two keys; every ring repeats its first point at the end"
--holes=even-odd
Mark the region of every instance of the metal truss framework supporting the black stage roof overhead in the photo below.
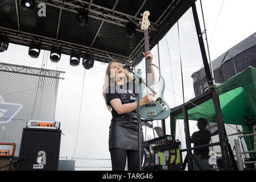
{"type": "MultiPolygon", "coordinates": [[[[156,20],[156,22],[150,22],[151,26],[148,27],[149,35],[151,35],[151,32],[154,33],[158,31],[158,28],[162,25],[164,20],[166,20],[166,18],[175,9],[176,5],[180,1],[181,0],[170,1],[170,5],[166,7],[162,15],[159,16],[158,20],[156,20]]],[[[16,15],[18,19],[18,30],[11,30],[10,28],[0,27],[0,32],[9,36],[9,39],[11,42],[28,46],[31,40],[34,40],[35,42],[36,41],[40,42],[42,44],[43,49],[49,49],[53,45],[61,46],[61,48],[63,49],[63,53],[67,55],[69,55],[71,51],[79,51],[81,54],[90,53],[94,55],[95,60],[105,62],[105,63],[109,63],[110,60],[120,61],[121,63],[130,63],[130,61],[134,59],[135,55],[137,55],[137,53],[141,51],[141,49],[144,46],[144,42],[143,42],[144,38],[142,38],[142,40],[137,44],[137,46],[133,49],[133,51],[131,51],[129,56],[122,56],[112,52],[107,52],[100,49],[92,48],[98,36],[98,33],[101,30],[102,24],[104,22],[115,24],[117,27],[125,27],[128,22],[133,22],[138,27],[135,30],[139,32],[143,32],[141,28],[139,28],[141,27],[142,18],[138,18],[137,16],[141,12],[142,7],[147,2],[147,0],[143,1],[142,5],[138,8],[137,13],[135,15],[129,15],[129,14],[121,13],[119,11],[115,11],[115,6],[117,5],[118,0],[115,1],[112,9],[95,5],[93,3],[93,0],[90,0],[90,2],[85,2],[81,0],[74,0],[74,1],[36,0],[36,2],[44,3],[47,6],[56,7],[60,9],[55,39],[20,31],[20,21],[19,21],[20,18],[19,18],[19,8],[18,8],[19,5],[18,5],[18,0],[15,0],[16,15]],[[94,36],[92,43],[90,44],[90,47],[59,40],[58,39],[59,29],[60,29],[60,22],[61,22],[61,16],[62,16],[63,10],[70,11],[72,13],[78,13],[79,9],[84,9],[84,8],[89,11],[88,16],[90,18],[94,18],[102,21],[100,24],[100,27],[98,27],[98,30],[96,32],[96,35],[94,36]]]]}

